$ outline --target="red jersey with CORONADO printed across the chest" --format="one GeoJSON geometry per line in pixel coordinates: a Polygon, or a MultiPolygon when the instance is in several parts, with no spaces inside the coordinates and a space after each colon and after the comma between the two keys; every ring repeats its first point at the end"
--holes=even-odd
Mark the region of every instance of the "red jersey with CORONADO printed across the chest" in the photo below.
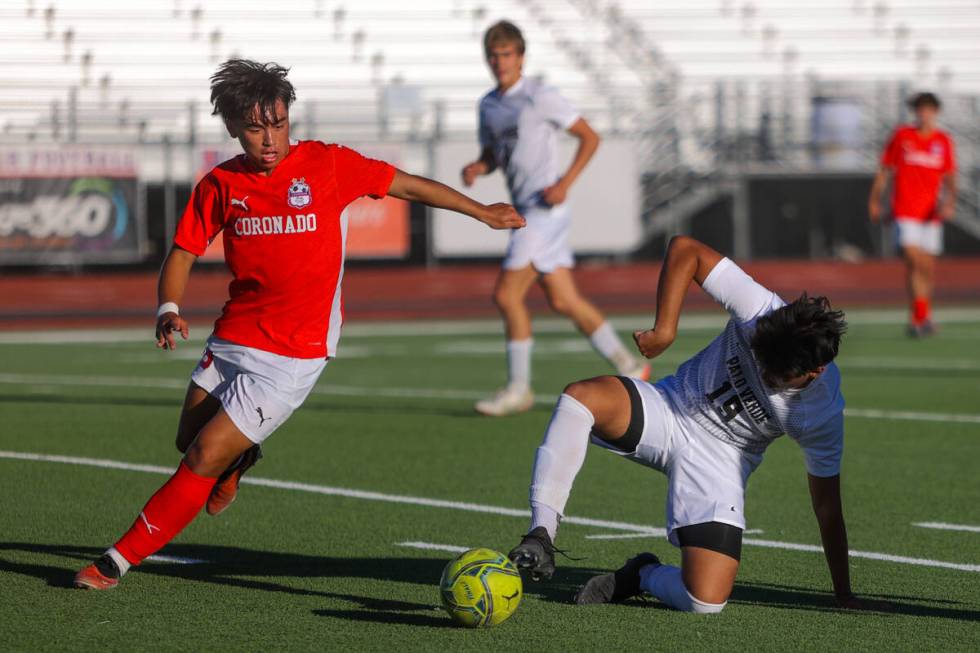
{"type": "Polygon", "coordinates": [[[214,334],[283,356],[332,356],[343,322],[341,212],[358,197],[386,195],[394,176],[383,161],[319,141],[294,144],[270,176],[244,154],[208,173],[174,244],[200,256],[224,230],[233,279],[214,334]]]}

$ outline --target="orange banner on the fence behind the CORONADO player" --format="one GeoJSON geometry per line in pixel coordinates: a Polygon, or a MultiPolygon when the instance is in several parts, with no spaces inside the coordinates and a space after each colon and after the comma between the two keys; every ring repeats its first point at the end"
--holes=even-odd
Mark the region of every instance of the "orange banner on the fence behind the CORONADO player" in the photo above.
{"type": "MultiPolygon", "coordinates": [[[[381,159],[397,166],[399,148],[391,145],[350,146],[364,156],[381,159]]],[[[198,160],[201,167],[197,180],[216,165],[241,154],[237,144],[221,148],[204,148],[198,160]]],[[[183,207],[181,207],[183,210],[183,207]]],[[[409,204],[395,197],[373,200],[362,197],[347,207],[347,257],[348,258],[405,258],[409,254],[409,204]]],[[[201,260],[223,261],[224,251],[221,234],[214,239],[201,260]]]]}

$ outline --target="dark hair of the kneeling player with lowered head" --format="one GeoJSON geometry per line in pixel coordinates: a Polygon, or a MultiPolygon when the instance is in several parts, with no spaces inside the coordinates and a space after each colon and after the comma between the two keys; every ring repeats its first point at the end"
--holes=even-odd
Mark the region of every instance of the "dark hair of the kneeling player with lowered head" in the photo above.
{"type": "Polygon", "coordinates": [[[752,353],[765,379],[785,381],[834,360],[845,331],[843,311],[832,310],[826,297],[803,293],[756,320],[752,353]]]}

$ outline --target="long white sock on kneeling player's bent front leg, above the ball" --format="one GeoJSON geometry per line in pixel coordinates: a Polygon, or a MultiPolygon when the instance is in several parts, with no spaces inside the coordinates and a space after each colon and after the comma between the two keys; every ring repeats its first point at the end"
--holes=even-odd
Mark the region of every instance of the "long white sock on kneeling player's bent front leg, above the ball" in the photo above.
{"type": "Polygon", "coordinates": [[[531,473],[531,530],[544,526],[554,541],[572,483],[585,463],[592,412],[574,397],[558,398],[531,473]]]}

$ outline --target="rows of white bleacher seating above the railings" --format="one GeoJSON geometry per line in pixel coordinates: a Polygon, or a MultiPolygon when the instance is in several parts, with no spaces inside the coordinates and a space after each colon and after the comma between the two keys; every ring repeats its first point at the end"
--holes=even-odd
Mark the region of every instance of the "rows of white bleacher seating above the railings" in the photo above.
{"type": "MultiPolygon", "coordinates": [[[[717,117],[719,80],[744,84],[729,90],[741,93],[740,114],[726,119],[746,124],[763,111],[767,92],[799,100],[807,80],[864,83],[868,94],[872,83],[980,88],[971,65],[980,54],[980,11],[964,0],[282,0],[243,7],[229,0],[5,3],[0,126],[13,138],[155,140],[169,133],[180,140],[192,128],[195,138],[216,138],[217,126],[206,119],[206,79],[219,61],[240,55],[292,66],[300,105],[315,105],[299,107],[308,121],[416,136],[438,121],[444,131],[472,133],[474,99],[489,85],[479,36],[500,17],[525,29],[529,72],[559,84],[607,130],[635,127],[630,120],[648,108],[651,79],[671,83],[670,97],[686,101],[685,113],[704,125],[717,117]],[[624,49],[629,42],[639,48],[624,49]]],[[[896,114],[891,109],[888,122],[896,114]]]]}

